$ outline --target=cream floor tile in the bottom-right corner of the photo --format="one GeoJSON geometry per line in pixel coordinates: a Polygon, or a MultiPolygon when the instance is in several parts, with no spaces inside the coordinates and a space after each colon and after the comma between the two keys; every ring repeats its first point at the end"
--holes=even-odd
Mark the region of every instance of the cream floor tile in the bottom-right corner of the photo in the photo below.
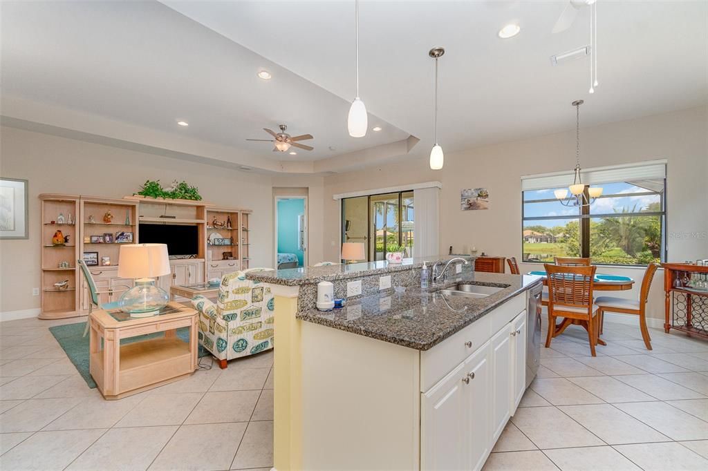
{"type": "Polygon", "coordinates": [[[708,460],[679,443],[639,443],[614,448],[645,471],[708,469],[708,460]]]}

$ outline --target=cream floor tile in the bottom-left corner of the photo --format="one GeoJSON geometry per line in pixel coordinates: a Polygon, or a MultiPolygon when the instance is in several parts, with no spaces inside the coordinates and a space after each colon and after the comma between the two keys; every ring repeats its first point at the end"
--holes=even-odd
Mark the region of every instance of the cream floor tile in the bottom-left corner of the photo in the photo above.
{"type": "Polygon", "coordinates": [[[0,457],[4,470],[63,470],[105,430],[38,432],[0,457]]]}

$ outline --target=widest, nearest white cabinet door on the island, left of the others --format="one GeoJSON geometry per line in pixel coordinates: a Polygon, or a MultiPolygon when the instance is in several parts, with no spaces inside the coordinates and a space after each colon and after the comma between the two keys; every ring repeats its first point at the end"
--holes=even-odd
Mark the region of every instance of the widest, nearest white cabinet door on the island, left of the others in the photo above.
{"type": "Polygon", "coordinates": [[[421,468],[469,470],[469,387],[462,363],[421,394],[421,468]]]}

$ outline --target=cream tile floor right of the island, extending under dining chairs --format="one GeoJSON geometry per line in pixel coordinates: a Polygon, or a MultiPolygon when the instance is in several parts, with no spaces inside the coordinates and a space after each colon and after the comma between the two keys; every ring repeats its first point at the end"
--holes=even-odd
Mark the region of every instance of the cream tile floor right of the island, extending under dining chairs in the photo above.
{"type": "Polygon", "coordinates": [[[612,322],[603,339],[595,357],[579,327],[542,347],[484,471],[708,470],[708,342],[651,329],[647,351],[612,322]]]}

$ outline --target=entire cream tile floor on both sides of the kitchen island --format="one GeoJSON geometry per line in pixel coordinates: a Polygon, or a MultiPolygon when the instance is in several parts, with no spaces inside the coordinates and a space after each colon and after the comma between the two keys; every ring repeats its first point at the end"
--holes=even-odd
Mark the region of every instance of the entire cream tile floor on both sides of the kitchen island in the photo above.
{"type": "MultiPolygon", "coordinates": [[[[273,465],[273,354],[105,401],[47,327],[0,322],[0,469],[254,470],[273,465]]],[[[708,470],[708,342],[607,322],[591,357],[571,327],[484,467],[708,470]]]]}

